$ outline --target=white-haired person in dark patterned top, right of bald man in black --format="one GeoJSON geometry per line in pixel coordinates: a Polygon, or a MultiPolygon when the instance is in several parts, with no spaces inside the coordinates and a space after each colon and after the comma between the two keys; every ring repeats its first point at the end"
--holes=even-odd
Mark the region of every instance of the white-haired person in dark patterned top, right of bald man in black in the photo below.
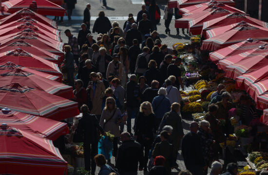
{"type": "MultiPolygon", "coordinates": [[[[209,166],[214,158],[214,152],[213,152],[212,146],[215,140],[213,140],[213,137],[211,134],[210,123],[208,121],[202,120],[200,122],[197,136],[199,136],[200,138],[201,149],[202,149],[204,160],[206,162],[206,165],[209,166]]],[[[208,170],[206,169],[205,172],[207,171],[208,170]]]]}

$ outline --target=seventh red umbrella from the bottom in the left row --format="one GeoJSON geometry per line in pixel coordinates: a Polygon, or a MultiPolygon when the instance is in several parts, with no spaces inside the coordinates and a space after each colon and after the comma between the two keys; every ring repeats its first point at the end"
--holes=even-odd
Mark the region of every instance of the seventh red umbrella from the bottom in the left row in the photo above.
{"type": "Polygon", "coordinates": [[[60,59],[60,56],[53,54],[53,53],[50,53],[50,52],[47,52],[41,48],[38,48],[34,45],[29,44],[29,43],[26,43],[23,40],[17,40],[14,43],[11,43],[11,44],[3,46],[3,47],[1,47],[1,45],[0,45],[0,53],[15,50],[17,48],[20,48],[20,49],[27,51],[29,53],[35,53],[35,55],[38,55],[39,57],[44,58],[44,59],[51,61],[53,63],[56,63],[56,64],[58,64],[58,61],[60,59]]]}

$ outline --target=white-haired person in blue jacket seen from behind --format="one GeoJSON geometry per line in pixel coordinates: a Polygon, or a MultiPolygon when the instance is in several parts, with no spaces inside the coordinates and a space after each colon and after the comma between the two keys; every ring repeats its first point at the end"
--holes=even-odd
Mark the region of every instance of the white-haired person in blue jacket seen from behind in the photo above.
{"type": "Polygon", "coordinates": [[[159,127],[165,113],[170,111],[171,103],[170,100],[165,97],[166,94],[166,88],[160,88],[158,90],[158,96],[153,98],[152,106],[153,112],[155,113],[156,128],[159,127]]]}

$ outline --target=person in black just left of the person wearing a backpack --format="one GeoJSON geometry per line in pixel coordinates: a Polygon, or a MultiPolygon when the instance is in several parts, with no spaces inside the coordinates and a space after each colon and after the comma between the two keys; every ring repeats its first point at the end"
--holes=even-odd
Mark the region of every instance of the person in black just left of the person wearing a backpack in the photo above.
{"type": "Polygon", "coordinates": [[[129,48],[129,60],[130,60],[130,72],[135,73],[135,66],[138,55],[141,53],[141,49],[138,45],[138,40],[133,39],[133,46],[129,48]]]}

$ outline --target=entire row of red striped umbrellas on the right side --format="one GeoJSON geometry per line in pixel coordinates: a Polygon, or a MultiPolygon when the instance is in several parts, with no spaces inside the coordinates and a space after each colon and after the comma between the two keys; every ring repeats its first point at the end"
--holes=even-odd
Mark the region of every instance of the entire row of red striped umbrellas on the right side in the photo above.
{"type": "Polygon", "coordinates": [[[183,18],[175,27],[201,35],[201,50],[210,52],[209,59],[225,77],[236,80],[236,88],[249,93],[268,124],[268,23],[249,17],[230,1],[177,0],[183,18]]]}

